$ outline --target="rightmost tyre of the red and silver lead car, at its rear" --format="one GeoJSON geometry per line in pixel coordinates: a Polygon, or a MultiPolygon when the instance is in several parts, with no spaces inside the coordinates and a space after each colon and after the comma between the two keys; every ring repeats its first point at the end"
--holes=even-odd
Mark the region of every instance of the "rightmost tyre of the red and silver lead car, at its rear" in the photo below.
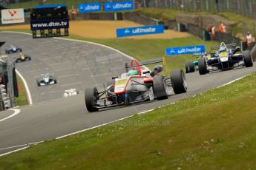
{"type": "Polygon", "coordinates": [[[175,69],[170,72],[171,75],[171,85],[174,89],[175,94],[180,94],[183,92],[187,92],[188,84],[186,81],[186,76],[181,69],[175,69]]]}

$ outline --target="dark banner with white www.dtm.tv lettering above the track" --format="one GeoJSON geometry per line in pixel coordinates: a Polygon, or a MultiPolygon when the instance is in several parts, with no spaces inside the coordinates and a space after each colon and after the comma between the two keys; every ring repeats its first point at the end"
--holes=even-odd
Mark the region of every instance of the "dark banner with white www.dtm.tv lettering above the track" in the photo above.
{"type": "Polygon", "coordinates": [[[68,18],[50,19],[50,20],[42,20],[42,21],[30,21],[31,30],[60,29],[60,28],[68,28],[68,27],[69,27],[68,18]]]}

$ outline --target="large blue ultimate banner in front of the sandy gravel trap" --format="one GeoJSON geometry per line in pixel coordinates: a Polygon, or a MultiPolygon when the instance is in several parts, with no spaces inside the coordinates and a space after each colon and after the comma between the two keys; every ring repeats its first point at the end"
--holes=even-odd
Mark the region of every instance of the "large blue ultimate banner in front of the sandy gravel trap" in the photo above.
{"type": "Polygon", "coordinates": [[[134,35],[160,34],[163,32],[164,32],[163,25],[118,28],[116,29],[116,38],[134,36],[134,35]]]}

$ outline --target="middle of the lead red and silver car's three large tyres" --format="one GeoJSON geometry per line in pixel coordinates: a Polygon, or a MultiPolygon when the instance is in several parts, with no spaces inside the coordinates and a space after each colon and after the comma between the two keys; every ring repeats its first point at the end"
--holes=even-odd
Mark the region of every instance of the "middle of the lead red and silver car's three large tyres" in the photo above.
{"type": "Polygon", "coordinates": [[[166,81],[163,75],[156,75],[153,78],[153,93],[157,100],[168,98],[166,81]]]}

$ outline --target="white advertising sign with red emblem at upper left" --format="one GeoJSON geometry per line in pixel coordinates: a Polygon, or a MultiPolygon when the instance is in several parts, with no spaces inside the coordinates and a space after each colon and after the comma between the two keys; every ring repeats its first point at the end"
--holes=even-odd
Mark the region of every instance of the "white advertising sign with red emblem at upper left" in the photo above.
{"type": "Polygon", "coordinates": [[[24,9],[7,9],[1,10],[2,24],[17,24],[24,23],[24,9]]]}

